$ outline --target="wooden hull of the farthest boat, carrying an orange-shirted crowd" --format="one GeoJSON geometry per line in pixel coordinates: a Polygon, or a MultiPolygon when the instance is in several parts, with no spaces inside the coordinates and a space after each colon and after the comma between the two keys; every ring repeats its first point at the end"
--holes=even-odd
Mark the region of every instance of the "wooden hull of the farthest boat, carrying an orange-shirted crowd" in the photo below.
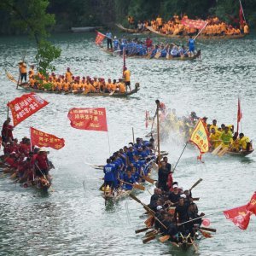
{"type": "MultiPolygon", "coordinates": [[[[165,33],[161,33],[161,32],[157,32],[154,30],[154,28],[152,26],[147,26],[148,30],[152,33],[154,33],[155,35],[158,35],[160,37],[164,37],[164,38],[188,38],[188,35],[173,35],[173,34],[165,34],[165,33]]],[[[222,36],[205,36],[200,34],[198,36],[198,39],[237,39],[237,38],[244,38],[245,35],[244,34],[239,34],[239,35],[222,35],[222,36]]]]}

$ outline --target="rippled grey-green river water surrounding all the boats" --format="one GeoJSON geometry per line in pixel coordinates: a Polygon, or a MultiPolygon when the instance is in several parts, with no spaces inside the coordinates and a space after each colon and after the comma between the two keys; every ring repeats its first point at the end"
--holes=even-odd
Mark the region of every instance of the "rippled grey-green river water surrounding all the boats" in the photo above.
{"type": "MultiPolygon", "coordinates": [[[[95,34],[61,34],[53,37],[61,47],[55,73],[70,67],[76,75],[118,79],[122,60],[99,51],[95,34]]],[[[162,40],[154,38],[154,40],[162,40]]],[[[176,42],[180,43],[180,42],[176,42]]],[[[154,112],[154,100],[159,98],[167,108],[176,108],[178,115],[195,111],[218,124],[236,125],[237,96],[241,96],[242,131],[255,136],[256,104],[256,43],[255,36],[230,41],[197,42],[202,58],[197,61],[160,61],[127,59],[132,84],[139,82],[141,90],[130,98],[77,97],[40,94],[49,105],[15,127],[15,137],[29,136],[29,127],[64,137],[66,146],[50,150],[55,164],[51,171],[54,191],[42,195],[33,189],[23,189],[9,178],[0,178],[0,255],[187,255],[177,249],[150,241],[143,244],[143,208],[126,199],[105,207],[98,188],[102,171],[86,163],[104,164],[108,157],[108,135],[111,151],[143,137],[145,110],[154,112]],[[105,107],[108,133],[79,131],[69,125],[67,112],[74,107],[105,107]]],[[[9,82],[4,68],[18,77],[17,63],[26,51],[27,63],[34,63],[35,48],[22,37],[0,39],[0,119],[6,118],[6,103],[20,96],[9,82]]],[[[183,149],[172,141],[162,143],[169,151],[172,164],[183,149]]],[[[3,150],[3,149],[1,149],[3,150]]],[[[194,190],[200,197],[200,212],[210,214],[211,226],[218,231],[214,238],[200,241],[201,255],[255,255],[256,218],[252,216],[247,230],[240,230],[221,212],[247,203],[255,190],[255,153],[245,158],[205,155],[197,162],[195,149],[185,150],[174,174],[183,188],[189,188],[202,178],[194,190]]],[[[155,174],[154,174],[155,175],[155,174]]],[[[148,186],[149,190],[153,190],[148,186]]],[[[148,203],[148,192],[138,193],[148,203]]]]}

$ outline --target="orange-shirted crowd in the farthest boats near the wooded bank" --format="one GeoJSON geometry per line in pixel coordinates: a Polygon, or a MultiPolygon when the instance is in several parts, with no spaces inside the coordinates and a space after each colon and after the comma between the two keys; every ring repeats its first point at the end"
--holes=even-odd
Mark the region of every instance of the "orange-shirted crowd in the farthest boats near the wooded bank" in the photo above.
{"type": "MultiPolygon", "coordinates": [[[[198,32],[198,30],[193,27],[184,26],[182,24],[183,19],[189,19],[188,15],[174,15],[172,19],[166,21],[164,21],[160,17],[160,15],[158,15],[158,17],[155,20],[146,20],[144,22],[138,20],[137,29],[139,31],[143,31],[147,29],[147,26],[152,26],[154,31],[161,32],[164,34],[183,36],[195,35],[198,32]]],[[[245,22],[240,27],[234,27],[225,23],[224,21],[219,20],[218,17],[208,17],[207,20],[201,20],[196,18],[195,20],[207,22],[206,28],[201,32],[201,34],[204,36],[239,35],[241,33],[249,33],[249,27],[245,22]]],[[[131,18],[131,16],[130,18],[128,17],[128,22],[130,23],[130,26],[134,26],[134,20],[131,18]]]]}

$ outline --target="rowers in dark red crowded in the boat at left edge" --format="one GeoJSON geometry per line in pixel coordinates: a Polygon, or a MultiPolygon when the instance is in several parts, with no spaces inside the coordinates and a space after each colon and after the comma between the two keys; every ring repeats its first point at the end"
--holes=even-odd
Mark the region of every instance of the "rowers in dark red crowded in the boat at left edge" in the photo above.
{"type": "Polygon", "coordinates": [[[38,188],[49,187],[51,183],[49,170],[54,168],[48,160],[49,152],[44,148],[32,147],[27,137],[23,137],[19,142],[13,136],[14,127],[10,125],[10,121],[11,119],[4,121],[2,137],[0,137],[3,146],[1,166],[5,168],[3,172],[12,173],[15,182],[23,183],[24,187],[32,185],[38,188]]]}

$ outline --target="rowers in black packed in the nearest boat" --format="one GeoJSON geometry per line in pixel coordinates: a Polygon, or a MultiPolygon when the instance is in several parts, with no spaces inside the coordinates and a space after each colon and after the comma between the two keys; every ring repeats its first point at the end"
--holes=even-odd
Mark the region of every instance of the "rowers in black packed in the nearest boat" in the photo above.
{"type": "Polygon", "coordinates": [[[191,189],[183,189],[173,181],[172,166],[167,158],[160,162],[158,182],[148,207],[155,212],[156,217],[149,225],[154,225],[154,229],[159,230],[163,236],[170,236],[170,241],[178,243],[182,236],[189,234],[192,238],[195,235],[200,238],[196,230],[201,225],[200,217],[204,216],[204,213],[198,213],[191,189]],[[190,222],[183,224],[187,221],[190,222]]]}

